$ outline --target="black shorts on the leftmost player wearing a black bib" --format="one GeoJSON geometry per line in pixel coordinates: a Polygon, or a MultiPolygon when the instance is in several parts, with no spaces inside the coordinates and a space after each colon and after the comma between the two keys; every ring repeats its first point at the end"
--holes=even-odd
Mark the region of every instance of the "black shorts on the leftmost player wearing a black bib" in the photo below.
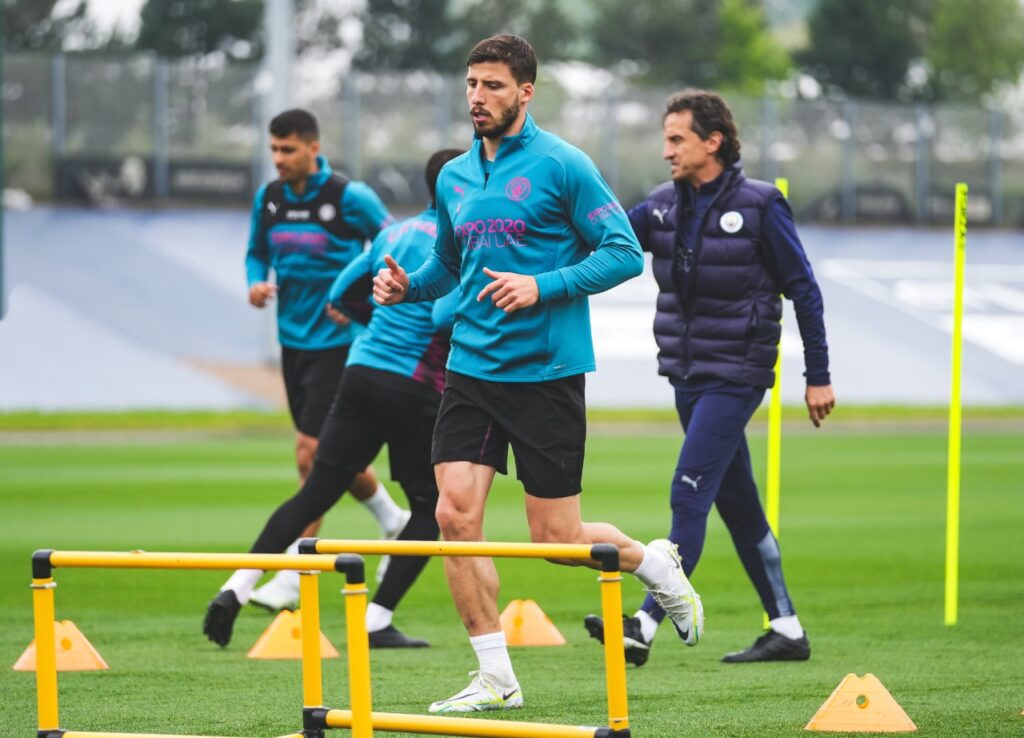
{"type": "Polygon", "coordinates": [[[338,392],[347,360],[348,346],[319,351],[281,347],[288,409],[299,433],[319,437],[321,426],[338,392]]]}

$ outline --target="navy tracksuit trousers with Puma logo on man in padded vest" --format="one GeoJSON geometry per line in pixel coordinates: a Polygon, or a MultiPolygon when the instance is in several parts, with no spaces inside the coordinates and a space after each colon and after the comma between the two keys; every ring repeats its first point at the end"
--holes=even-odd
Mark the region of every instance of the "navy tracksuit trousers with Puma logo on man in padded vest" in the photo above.
{"type": "MultiPolygon", "coordinates": [[[[676,409],[686,437],[672,478],[672,529],[689,576],[700,560],[714,504],[770,618],[795,613],[782,578],[778,541],[765,518],[751,468],[745,428],[764,389],[721,380],[676,387],[676,409]]],[[[643,609],[665,617],[649,595],[643,609]]]]}

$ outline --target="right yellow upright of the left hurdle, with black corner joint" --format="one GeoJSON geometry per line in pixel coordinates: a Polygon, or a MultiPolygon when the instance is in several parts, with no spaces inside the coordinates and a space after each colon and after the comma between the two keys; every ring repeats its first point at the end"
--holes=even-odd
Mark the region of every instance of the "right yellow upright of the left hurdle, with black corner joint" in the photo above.
{"type": "MultiPolygon", "coordinates": [[[[339,557],[338,569],[343,570],[339,557]]],[[[345,632],[348,636],[348,696],[352,701],[352,738],[372,738],[373,697],[370,685],[370,635],[367,633],[367,581],[361,560],[345,571],[345,632]]]]}

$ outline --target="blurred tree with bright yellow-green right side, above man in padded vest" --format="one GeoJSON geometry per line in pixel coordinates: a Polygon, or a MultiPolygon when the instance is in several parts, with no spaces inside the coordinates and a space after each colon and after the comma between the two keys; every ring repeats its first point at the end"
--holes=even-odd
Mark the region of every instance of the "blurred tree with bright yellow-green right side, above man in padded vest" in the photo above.
{"type": "Polygon", "coordinates": [[[591,60],[637,66],[651,82],[760,92],[790,70],[762,0],[597,0],[591,60]]]}

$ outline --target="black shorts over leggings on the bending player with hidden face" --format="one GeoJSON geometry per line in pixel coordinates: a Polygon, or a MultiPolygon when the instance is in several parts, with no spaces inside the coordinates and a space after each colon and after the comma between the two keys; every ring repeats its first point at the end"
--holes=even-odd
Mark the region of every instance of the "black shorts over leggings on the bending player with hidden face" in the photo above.
{"type": "Polygon", "coordinates": [[[324,422],[316,461],[356,473],[386,443],[391,479],[407,492],[436,491],[430,442],[440,399],[436,390],[409,377],[349,366],[324,422]]]}

